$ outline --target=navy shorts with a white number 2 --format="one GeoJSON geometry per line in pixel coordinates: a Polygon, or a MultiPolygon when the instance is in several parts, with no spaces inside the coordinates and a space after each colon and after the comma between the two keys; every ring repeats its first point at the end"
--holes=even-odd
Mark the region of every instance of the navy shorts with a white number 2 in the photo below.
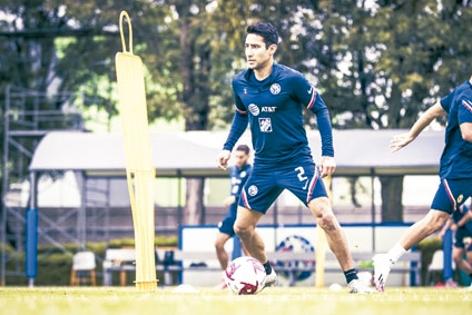
{"type": "Polygon", "coordinates": [[[314,163],[272,169],[255,165],[242,190],[239,206],[265,214],[284,189],[305,205],[314,198],[327,197],[314,163]]]}

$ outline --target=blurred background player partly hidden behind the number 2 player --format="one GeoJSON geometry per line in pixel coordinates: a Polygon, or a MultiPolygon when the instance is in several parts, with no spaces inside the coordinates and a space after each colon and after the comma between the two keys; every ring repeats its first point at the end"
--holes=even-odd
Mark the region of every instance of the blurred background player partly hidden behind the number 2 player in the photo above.
{"type": "MultiPolygon", "coordinates": [[[[249,160],[249,147],[246,145],[239,145],[236,148],[235,154],[236,163],[235,166],[229,168],[229,179],[232,181],[230,195],[225,199],[225,206],[228,207],[227,216],[218,224],[218,234],[215,240],[216,256],[218,257],[222,269],[225,270],[228,266],[228,253],[225,250],[225,244],[234,235],[233,228],[236,220],[237,201],[239,200],[240,190],[244,184],[246,184],[249,177],[253,166],[248,164],[249,160]]],[[[243,252],[244,247],[243,247],[243,252]]],[[[246,253],[245,253],[246,254],[246,253]]],[[[222,280],[215,288],[226,288],[225,280],[222,280]]]]}

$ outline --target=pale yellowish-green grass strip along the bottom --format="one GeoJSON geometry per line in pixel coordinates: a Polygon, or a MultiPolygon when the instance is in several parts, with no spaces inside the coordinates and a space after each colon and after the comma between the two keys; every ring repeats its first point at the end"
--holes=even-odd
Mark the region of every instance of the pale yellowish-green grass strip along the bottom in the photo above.
{"type": "Polygon", "coordinates": [[[273,287],[258,295],[228,291],[174,288],[140,292],[135,287],[2,287],[0,314],[470,314],[472,292],[465,288],[390,287],[372,295],[312,287],[273,287]]]}

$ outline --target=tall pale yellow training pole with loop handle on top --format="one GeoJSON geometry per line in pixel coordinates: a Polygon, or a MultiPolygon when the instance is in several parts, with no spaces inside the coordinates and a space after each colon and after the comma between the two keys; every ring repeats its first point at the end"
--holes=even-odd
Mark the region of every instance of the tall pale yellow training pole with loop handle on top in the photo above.
{"type": "Polygon", "coordinates": [[[135,227],[136,287],[151,291],[157,289],[151,189],[155,169],[150,160],[145,79],[141,59],[132,55],[131,20],[126,11],[120,13],[119,27],[124,51],[116,55],[115,65],[125,141],[126,176],[135,227]],[[129,50],[126,49],[122,30],[125,18],[128,20],[129,50]]]}

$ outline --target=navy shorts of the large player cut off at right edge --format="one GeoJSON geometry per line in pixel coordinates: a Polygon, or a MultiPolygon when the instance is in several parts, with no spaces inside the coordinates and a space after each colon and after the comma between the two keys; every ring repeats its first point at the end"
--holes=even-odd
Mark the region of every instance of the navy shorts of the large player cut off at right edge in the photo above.
{"type": "Polygon", "coordinates": [[[471,179],[441,179],[431,209],[452,214],[472,196],[471,179]]]}

